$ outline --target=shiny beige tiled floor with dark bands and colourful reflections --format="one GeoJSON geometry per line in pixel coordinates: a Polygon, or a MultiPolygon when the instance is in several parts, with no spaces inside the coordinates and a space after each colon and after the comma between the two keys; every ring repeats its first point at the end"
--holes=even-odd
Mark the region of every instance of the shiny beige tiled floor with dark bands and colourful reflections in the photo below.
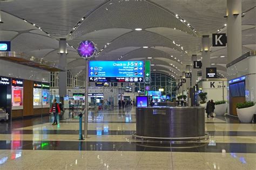
{"type": "Polygon", "coordinates": [[[133,139],[134,108],[90,112],[83,141],[77,115],[66,111],[58,126],[51,122],[1,122],[0,169],[256,169],[256,125],[227,117],[205,117],[210,139],[181,147],[133,139]]]}

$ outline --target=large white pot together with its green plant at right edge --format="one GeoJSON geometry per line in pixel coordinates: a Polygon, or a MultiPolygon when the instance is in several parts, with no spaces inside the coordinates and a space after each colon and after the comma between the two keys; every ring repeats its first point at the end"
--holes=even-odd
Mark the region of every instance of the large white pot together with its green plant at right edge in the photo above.
{"type": "Polygon", "coordinates": [[[237,103],[237,116],[242,123],[252,122],[253,114],[256,114],[256,105],[254,102],[247,101],[237,103]]]}

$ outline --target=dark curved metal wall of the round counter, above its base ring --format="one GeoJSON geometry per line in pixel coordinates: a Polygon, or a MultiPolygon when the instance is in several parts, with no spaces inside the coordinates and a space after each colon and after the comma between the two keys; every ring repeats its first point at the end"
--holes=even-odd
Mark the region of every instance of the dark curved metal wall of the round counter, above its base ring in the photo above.
{"type": "Polygon", "coordinates": [[[136,108],[136,137],[199,139],[205,137],[203,107],[136,108]]]}

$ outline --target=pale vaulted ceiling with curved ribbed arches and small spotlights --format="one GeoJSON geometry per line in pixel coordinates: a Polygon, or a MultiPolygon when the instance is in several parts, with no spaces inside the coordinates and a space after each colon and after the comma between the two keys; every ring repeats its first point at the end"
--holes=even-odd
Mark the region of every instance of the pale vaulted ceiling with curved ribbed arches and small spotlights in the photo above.
{"type": "MultiPolygon", "coordinates": [[[[256,49],[255,6],[242,1],[243,53],[256,49]]],[[[95,60],[151,60],[152,69],[179,76],[192,54],[200,60],[202,35],[226,32],[225,0],[16,0],[1,9],[0,40],[11,40],[12,51],[58,63],[58,40],[66,38],[74,73],[85,65],[76,48],[89,39],[99,50],[95,60]]],[[[211,48],[211,63],[224,75],[226,53],[211,48]]]]}

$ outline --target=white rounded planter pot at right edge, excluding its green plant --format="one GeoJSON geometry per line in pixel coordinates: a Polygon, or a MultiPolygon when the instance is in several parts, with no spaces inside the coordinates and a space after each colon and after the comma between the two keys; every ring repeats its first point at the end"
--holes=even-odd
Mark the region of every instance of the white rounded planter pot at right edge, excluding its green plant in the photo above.
{"type": "Polygon", "coordinates": [[[250,108],[237,108],[237,115],[239,118],[239,121],[242,123],[250,123],[252,122],[253,114],[256,114],[256,105],[250,107],[250,108]]]}

